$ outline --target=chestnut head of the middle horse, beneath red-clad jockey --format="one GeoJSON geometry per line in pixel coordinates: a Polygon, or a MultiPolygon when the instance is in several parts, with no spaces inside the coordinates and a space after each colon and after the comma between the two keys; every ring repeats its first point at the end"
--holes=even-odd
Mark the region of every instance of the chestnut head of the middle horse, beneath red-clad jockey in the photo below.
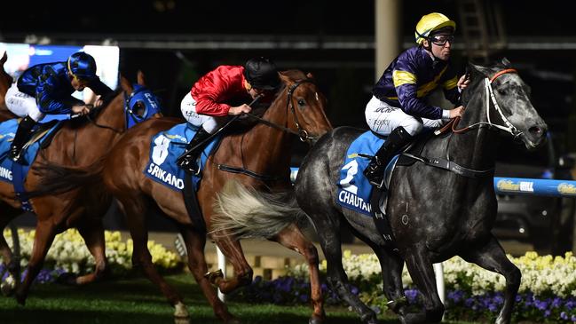
{"type": "Polygon", "coordinates": [[[320,136],[332,130],[325,113],[326,98],[313,82],[311,74],[288,70],[280,72],[280,79],[285,85],[280,96],[284,92],[286,94],[279,99],[286,101],[288,128],[298,132],[300,140],[312,145],[320,136]]]}

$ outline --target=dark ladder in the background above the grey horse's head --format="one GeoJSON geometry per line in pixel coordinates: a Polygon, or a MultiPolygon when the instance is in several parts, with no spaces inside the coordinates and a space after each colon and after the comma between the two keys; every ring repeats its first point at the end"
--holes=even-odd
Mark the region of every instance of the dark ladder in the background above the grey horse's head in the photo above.
{"type": "Polygon", "coordinates": [[[500,5],[491,0],[460,0],[457,4],[469,60],[488,63],[507,43],[500,5]]]}

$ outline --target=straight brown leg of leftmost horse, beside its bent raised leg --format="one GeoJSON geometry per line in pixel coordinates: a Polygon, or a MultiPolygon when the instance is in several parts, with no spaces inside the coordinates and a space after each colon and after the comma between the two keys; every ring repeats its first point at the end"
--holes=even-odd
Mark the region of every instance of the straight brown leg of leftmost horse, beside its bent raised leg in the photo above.
{"type": "MultiPolygon", "coordinates": [[[[46,217],[46,219],[50,219],[50,217],[46,217]]],[[[44,258],[52,245],[52,241],[54,241],[54,236],[56,236],[56,225],[54,225],[51,220],[38,222],[36,225],[32,255],[28,261],[28,273],[26,273],[20,287],[16,289],[16,300],[19,304],[26,303],[28,290],[42,269],[44,258]]]]}

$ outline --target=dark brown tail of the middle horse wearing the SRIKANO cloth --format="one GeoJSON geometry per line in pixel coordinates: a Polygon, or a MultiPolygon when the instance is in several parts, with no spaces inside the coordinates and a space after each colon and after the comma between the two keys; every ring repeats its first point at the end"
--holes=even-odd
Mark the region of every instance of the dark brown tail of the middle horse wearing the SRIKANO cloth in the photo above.
{"type": "Polygon", "coordinates": [[[42,180],[39,186],[27,193],[29,198],[63,194],[79,187],[101,185],[104,158],[83,168],[44,162],[35,166],[33,170],[42,180]]]}

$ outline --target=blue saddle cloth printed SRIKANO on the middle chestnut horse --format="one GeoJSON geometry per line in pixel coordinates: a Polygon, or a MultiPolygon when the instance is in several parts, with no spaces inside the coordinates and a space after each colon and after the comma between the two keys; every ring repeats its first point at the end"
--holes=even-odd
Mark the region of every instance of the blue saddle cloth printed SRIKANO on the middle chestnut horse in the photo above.
{"type": "MultiPolygon", "coordinates": [[[[150,158],[146,169],[143,171],[146,177],[168,186],[174,190],[184,188],[185,171],[176,164],[178,156],[184,153],[185,147],[193,138],[196,130],[189,123],[180,123],[170,130],[161,131],[154,135],[150,143],[150,158]]],[[[212,138],[209,145],[204,148],[200,155],[201,170],[208,160],[212,149],[220,141],[221,136],[212,138]]],[[[198,175],[193,175],[194,190],[198,190],[201,180],[201,171],[198,175]]]]}

